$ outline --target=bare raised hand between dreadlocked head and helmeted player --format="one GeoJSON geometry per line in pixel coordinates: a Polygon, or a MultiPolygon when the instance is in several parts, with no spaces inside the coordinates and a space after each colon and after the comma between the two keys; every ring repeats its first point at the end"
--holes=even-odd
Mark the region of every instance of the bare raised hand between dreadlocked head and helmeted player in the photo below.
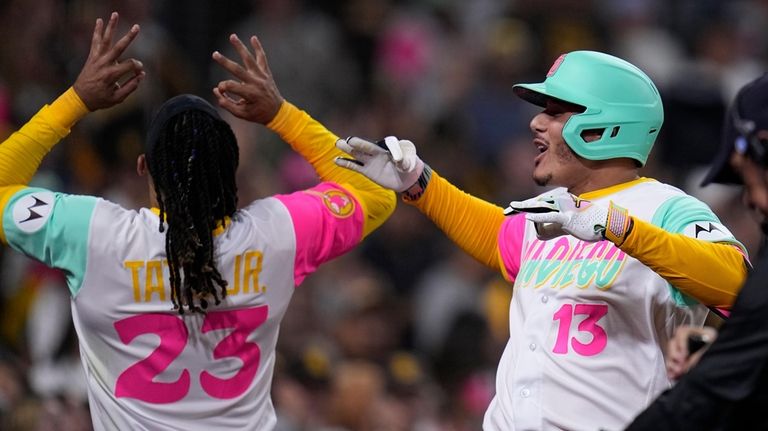
{"type": "Polygon", "coordinates": [[[240,55],[242,64],[230,60],[219,51],[213,53],[213,59],[236,78],[219,82],[213,94],[219,105],[232,115],[267,124],[280,110],[283,97],[272,78],[264,49],[256,36],[250,39],[253,53],[236,35],[230,35],[229,41],[240,55]]]}

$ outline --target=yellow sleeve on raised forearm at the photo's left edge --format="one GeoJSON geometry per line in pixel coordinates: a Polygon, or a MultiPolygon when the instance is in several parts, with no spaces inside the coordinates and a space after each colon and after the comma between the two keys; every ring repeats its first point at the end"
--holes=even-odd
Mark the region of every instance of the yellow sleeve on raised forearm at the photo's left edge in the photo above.
{"type": "Polygon", "coordinates": [[[51,105],[40,109],[0,144],[0,186],[29,183],[43,157],[87,113],[85,103],[71,87],[51,105]]]}

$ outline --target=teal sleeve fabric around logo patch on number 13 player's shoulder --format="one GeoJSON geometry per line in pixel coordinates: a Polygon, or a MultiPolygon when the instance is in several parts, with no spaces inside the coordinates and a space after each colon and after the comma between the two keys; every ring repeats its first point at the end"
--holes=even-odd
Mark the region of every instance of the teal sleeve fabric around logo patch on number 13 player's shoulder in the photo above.
{"type": "MultiPolygon", "coordinates": [[[[722,224],[717,215],[704,202],[688,195],[677,196],[665,201],[656,210],[651,220],[652,224],[672,233],[681,233],[686,226],[695,222],[722,224]]],[[[736,238],[731,237],[730,242],[739,246],[742,250],[746,250],[744,245],[737,241],[736,238]]],[[[677,305],[691,306],[699,303],[699,301],[680,292],[672,284],[667,284],[677,305]]]]}

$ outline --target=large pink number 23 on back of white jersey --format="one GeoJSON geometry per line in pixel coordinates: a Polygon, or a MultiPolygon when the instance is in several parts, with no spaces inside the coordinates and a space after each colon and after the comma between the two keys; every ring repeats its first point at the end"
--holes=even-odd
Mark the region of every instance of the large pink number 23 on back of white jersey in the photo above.
{"type": "MultiPolygon", "coordinates": [[[[222,379],[206,370],[200,372],[200,386],[214,398],[229,399],[242,395],[258,371],[261,351],[248,336],[267,320],[268,307],[212,311],[205,315],[202,332],[232,329],[213,349],[213,358],[237,357],[243,367],[230,378],[222,379]]],[[[190,372],[186,368],[174,382],[155,382],[154,378],[181,354],[189,332],[184,321],[172,314],[142,314],[115,322],[120,340],[130,344],[143,334],[155,334],[160,344],[146,358],[123,371],[115,383],[115,396],[135,398],[153,404],[173,403],[189,392],[190,372]]]]}

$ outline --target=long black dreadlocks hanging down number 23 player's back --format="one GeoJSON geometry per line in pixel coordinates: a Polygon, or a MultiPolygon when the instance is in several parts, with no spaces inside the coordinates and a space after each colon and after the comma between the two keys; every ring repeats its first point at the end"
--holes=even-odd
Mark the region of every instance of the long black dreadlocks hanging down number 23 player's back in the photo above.
{"type": "Polygon", "coordinates": [[[148,157],[160,209],[160,232],[179,314],[218,305],[227,282],[214,262],[213,231],[237,209],[239,151],[226,122],[188,110],[171,117],[148,157]]]}

